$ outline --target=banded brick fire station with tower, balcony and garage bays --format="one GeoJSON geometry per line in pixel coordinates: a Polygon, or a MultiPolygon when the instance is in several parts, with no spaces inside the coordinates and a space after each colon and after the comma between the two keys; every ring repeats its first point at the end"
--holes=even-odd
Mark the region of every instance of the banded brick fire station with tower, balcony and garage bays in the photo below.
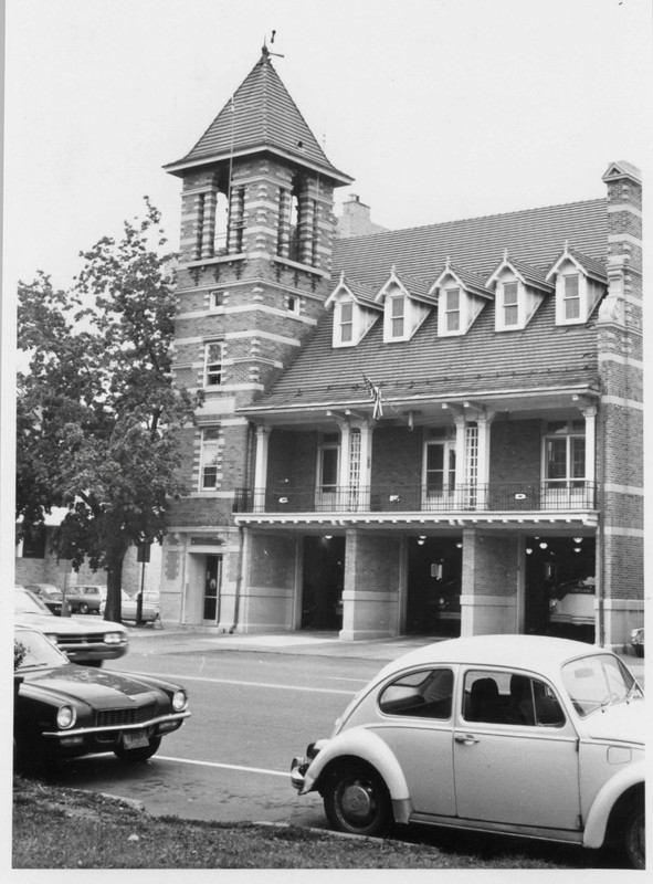
{"type": "MultiPolygon", "coordinates": [[[[227,96],[225,96],[227,97],[227,96]]],[[[385,231],[267,50],[182,180],[176,377],[202,389],[165,620],[343,640],[643,623],[641,177],[385,231]],[[346,228],[344,230],[344,228],[346,228]]],[[[599,172],[600,173],[600,172],[599,172]]]]}

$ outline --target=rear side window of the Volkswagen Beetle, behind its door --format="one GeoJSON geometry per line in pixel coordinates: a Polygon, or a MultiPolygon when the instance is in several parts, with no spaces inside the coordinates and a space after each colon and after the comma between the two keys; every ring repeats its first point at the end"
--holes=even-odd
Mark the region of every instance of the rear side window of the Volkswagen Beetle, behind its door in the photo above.
{"type": "Polygon", "coordinates": [[[450,669],[420,670],[391,682],[379,696],[386,715],[420,718],[451,718],[453,672],[450,669]]]}

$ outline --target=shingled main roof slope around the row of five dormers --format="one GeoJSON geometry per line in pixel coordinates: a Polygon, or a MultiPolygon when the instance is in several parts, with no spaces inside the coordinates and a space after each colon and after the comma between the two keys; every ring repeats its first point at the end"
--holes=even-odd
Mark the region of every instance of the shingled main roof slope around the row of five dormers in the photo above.
{"type": "MultiPolygon", "coordinates": [[[[566,241],[604,266],[605,200],[337,240],[334,287],[341,271],[348,280],[380,287],[392,264],[400,276],[404,272],[432,284],[447,255],[456,267],[487,278],[505,249],[544,276],[566,241]]],[[[389,401],[592,386],[598,378],[594,320],[596,311],[584,325],[557,326],[555,298],[548,296],[525,329],[495,332],[488,303],[466,335],[438,337],[433,308],[409,341],[385,344],[379,319],[356,347],[334,348],[333,314],[325,312],[293,365],[246,411],[369,404],[362,372],[389,401]]]]}

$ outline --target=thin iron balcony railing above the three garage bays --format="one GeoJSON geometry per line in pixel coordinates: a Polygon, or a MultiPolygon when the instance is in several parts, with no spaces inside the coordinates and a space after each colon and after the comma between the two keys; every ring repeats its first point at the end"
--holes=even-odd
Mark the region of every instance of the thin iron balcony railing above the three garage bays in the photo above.
{"type": "Polygon", "coordinates": [[[370,485],[238,488],[235,513],[449,513],[594,509],[593,482],[509,482],[433,488],[370,485]]]}

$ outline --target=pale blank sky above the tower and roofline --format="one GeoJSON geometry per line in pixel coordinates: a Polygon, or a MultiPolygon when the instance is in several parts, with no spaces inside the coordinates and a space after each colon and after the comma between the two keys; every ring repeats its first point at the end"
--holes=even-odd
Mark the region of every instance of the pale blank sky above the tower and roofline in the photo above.
{"type": "Polygon", "coordinates": [[[387,228],[601,197],[610,161],[650,161],[650,0],[7,0],[6,29],[8,297],[70,285],[145,194],[176,250],[162,166],[264,42],[355,179],[337,200],[387,228]]]}

